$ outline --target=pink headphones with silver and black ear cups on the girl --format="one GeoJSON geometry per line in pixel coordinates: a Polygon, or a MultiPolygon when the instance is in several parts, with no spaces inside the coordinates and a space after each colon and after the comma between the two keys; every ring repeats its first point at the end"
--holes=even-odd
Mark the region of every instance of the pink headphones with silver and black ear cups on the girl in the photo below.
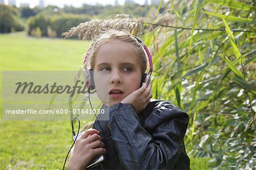
{"type": "MultiPolygon", "coordinates": [[[[131,36],[133,36],[133,35],[131,35],[131,36]]],[[[146,83],[147,85],[150,83],[150,77],[151,77],[151,73],[153,71],[152,57],[151,57],[150,52],[148,51],[148,49],[146,47],[146,44],[144,42],[142,42],[142,40],[140,40],[136,36],[133,36],[133,38],[135,38],[137,40],[137,42],[146,51],[148,61],[149,61],[149,64],[150,64],[150,69],[149,69],[148,73],[143,73],[142,74],[141,85],[139,86],[139,87],[141,87],[143,82],[146,83]]],[[[90,52],[92,51],[93,45],[94,45],[94,42],[92,43],[92,45],[90,45],[88,51],[85,53],[84,64],[88,61],[88,57],[90,55],[90,52]]],[[[90,90],[95,89],[95,85],[94,85],[94,81],[93,81],[93,70],[92,69],[85,69],[85,80],[86,80],[86,86],[87,86],[89,92],[90,92],[90,90]]]]}

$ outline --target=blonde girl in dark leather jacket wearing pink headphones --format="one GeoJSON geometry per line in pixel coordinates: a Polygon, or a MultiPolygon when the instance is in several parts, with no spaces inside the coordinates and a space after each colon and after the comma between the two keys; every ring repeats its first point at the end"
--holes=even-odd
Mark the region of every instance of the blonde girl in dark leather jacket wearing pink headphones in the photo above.
{"type": "Polygon", "coordinates": [[[189,169],[183,142],[188,115],[151,99],[151,84],[141,85],[147,56],[139,40],[125,31],[103,32],[85,68],[109,73],[109,121],[95,121],[76,141],[68,169],[85,169],[99,155],[105,160],[96,169],[189,169]]]}

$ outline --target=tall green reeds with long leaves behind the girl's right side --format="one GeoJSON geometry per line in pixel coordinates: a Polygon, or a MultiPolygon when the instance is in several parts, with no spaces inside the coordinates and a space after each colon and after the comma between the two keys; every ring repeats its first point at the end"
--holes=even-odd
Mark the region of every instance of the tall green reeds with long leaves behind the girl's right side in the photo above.
{"type": "Polygon", "coordinates": [[[190,155],[210,157],[210,167],[255,166],[254,1],[169,1],[166,6],[172,28],[160,19],[148,20],[154,24],[149,31],[144,27],[143,40],[154,51],[153,97],[189,114],[190,155]]]}

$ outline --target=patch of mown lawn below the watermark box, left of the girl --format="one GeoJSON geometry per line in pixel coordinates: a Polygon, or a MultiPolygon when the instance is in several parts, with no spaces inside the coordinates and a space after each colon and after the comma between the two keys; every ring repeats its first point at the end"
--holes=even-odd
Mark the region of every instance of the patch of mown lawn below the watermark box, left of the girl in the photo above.
{"type": "Polygon", "coordinates": [[[0,121],[0,169],[61,169],[71,146],[69,122],[0,121]]]}

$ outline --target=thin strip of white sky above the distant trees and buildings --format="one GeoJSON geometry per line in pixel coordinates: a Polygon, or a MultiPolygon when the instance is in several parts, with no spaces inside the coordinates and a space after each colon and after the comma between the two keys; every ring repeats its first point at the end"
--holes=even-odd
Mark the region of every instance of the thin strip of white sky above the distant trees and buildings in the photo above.
{"type": "MultiPolygon", "coordinates": [[[[7,5],[9,3],[8,0],[4,0],[5,4],[7,5]]],[[[16,1],[16,6],[19,7],[20,3],[30,3],[30,7],[38,6],[39,0],[12,0],[16,1]]],[[[139,3],[141,5],[144,4],[144,0],[134,0],[134,2],[139,3]]],[[[150,0],[148,1],[150,2],[150,0]]],[[[83,3],[89,4],[89,5],[95,5],[96,3],[100,3],[101,5],[114,5],[115,0],[45,0],[44,6],[47,5],[57,5],[59,7],[63,7],[64,5],[72,5],[74,7],[80,7],[83,3]]],[[[118,0],[119,5],[123,5],[125,3],[125,0],[118,0]]]]}

